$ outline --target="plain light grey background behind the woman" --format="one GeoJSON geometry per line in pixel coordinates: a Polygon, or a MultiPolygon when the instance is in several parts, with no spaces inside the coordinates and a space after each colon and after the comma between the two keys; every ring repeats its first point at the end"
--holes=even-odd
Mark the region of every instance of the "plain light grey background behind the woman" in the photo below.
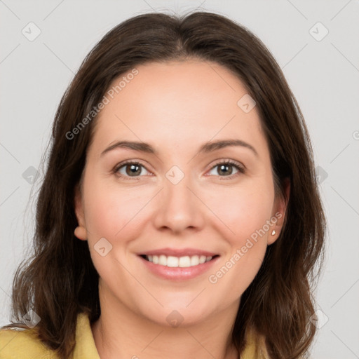
{"type": "Polygon", "coordinates": [[[41,155],[81,61],[133,15],[194,8],[227,15],[257,34],[297,97],[329,224],[312,357],[359,358],[359,1],[353,0],[0,1],[0,325],[9,320],[13,272],[31,245],[41,155]],[[34,41],[22,34],[36,34],[29,22],[41,31],[34,41]]]}

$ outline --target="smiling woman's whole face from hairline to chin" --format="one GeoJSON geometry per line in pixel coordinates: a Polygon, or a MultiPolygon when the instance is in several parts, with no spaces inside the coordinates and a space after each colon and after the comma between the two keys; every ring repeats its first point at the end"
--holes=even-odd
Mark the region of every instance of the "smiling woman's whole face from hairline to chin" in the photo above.
{"type": "Polygon", "coordinates": [[[257,108],[212,62],[136,68],[106,95],[76,196],[102,298],[163,325],[237,311],[285,212],[257,108]]]}

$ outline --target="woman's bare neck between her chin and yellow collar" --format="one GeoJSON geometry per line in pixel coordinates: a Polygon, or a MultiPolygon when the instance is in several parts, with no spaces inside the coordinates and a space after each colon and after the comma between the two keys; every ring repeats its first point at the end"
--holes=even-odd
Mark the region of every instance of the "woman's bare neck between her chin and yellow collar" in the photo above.
{"type": "Polygon", "coordinates": [[[186,327],[154,323],[101,292],[100,304],[101,316],[91,329],[101,359],[238,358],[231,328],[239,302],[186,327]]]}

